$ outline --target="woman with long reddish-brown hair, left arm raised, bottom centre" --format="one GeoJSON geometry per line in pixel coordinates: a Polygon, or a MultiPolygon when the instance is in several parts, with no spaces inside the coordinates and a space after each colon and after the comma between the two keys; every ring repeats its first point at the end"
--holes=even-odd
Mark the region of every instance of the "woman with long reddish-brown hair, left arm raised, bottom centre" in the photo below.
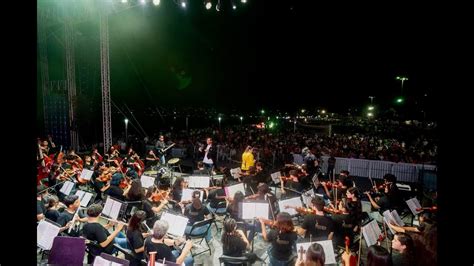
{"type": "Polygon", "coordinates": [[[268,234],[264,219],[259,218],[259,220],[263,239],[272,244],[268,251],[270,265],[294,265],[298,236],[294,232],[291,215],[287,212],[279,213],[272,226],[273,229],[268,234]]]}

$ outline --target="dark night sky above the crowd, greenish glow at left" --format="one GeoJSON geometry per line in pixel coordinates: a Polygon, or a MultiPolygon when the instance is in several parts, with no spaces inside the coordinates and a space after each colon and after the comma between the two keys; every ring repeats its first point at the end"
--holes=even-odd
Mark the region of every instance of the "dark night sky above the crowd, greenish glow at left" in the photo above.
{"type": "MultiPolygon", "coordinates": [[[[138,110],[198,105],[346,112],[375,96],[375,103],[390,108],[400,94],[397,75],[408,76],[404,94],[412,102],[433,102],[439,22],[427,8],[248,0],[236,1],[233,11],[230,0],[222,0],[216,12],[201,1],[191,1],[186,10],[161,2],[109,20],[111,95],[117,104],[138,110]]],[[[98,20],[76,30],[78,83],[86,98],[97,101],[98,20]]],[[[54,42],[48,47],[50,74],[60,79],[64,52],[54,42]]]]}

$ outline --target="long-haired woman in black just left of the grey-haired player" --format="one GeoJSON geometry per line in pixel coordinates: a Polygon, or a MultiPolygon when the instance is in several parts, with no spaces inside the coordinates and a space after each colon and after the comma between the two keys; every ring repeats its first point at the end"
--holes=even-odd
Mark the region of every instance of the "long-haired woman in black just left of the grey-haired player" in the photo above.
{"type": "Polygon", "coordinates": [[[143,252],[145,251],[144,240],[150,235],[143,224],[145,217],[145,212],[139,210],[132,215],[128,222],[128,244],[133,254],[137,257],[136,261],[130,261],[133,265],[140,265],[140,261],[145,258],[143,256],[143,252]]]}

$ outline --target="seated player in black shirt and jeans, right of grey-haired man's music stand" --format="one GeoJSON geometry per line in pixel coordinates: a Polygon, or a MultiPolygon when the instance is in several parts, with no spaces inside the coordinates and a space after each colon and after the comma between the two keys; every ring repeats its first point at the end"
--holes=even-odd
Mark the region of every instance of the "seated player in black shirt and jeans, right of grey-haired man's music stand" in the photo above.
{"type": "MultiPolygon", "coordinates": [[[[202,205],[199,196],[193,197],[192,204],[188,205],[184,210],[184,215],[189,218],[188,225],[186,226],[186,230],[184,231],[184,233],[188,235],[191,232],[191,228],[194,223],[203,221],[204,218],[211,218],[209,217],[210,213],[211,212],[207,209],[207,207],[202,205]]],[[[212,238],[211,230],[209,227],[211,227],[211,224],[196,227],[193,230],[193,234],[199,235],[207,231],[206,240],[209,242],[212,238]]]]}

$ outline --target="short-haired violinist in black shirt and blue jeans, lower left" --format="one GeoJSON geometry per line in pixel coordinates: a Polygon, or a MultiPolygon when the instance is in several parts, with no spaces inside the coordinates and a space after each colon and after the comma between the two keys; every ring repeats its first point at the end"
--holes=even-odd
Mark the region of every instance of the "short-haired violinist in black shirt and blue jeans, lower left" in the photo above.
{"type": "Polygon", "coordinates": [[[92,204],[87,209],[87,223],[84,225],[82,235],[91,241],[96,241],[97,246],[92,246],[91,253],[94,255],[100,255],[105,252],[107,254],[114,253],[114,243],[116,242],[120,246],[127,248],[127,241],[125,235],[121,233],[124,224],[108,223],[102,225],[99,223],[99,215],[102,212],[102,206],[99,204],[92,204]],[[115,230],[109,233],[108,229],[115,225],[115,230]],[[121,233],[121,235],[119,235],[121,233]]]}

